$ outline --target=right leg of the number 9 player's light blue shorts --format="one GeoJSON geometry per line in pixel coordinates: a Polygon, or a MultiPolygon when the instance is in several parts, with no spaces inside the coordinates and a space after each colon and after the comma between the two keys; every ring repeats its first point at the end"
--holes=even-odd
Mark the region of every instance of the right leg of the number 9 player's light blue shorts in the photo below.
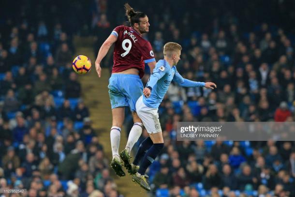
{"type": "MultiPolygon", "coordinates": [[[[128,85],[124,87],[126,90],[126,98],[131,112],[136,111],[136,102],[143,95],[143,84],[139,77],[128,78],[128,85]]],[[[127,84],[127,83],[126,83],[127,84]]],[[[134,117],[133,117],[134,118],[134,117]]],[[[135,115],[136,118],[136,115],[135,115]]],[[[133,119],[134,120],[134,119],[133,119]]]]}

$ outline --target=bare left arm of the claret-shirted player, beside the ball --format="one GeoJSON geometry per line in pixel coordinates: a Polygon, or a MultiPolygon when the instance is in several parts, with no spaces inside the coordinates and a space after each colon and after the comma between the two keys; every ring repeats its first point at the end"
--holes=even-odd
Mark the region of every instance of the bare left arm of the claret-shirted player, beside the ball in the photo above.
{"type": "Polygon", "coordinates": [[[103,43],[101,48],[98,51],[98,55],[95,61],[95,69],[97,72],[98,77],[101,77],[101,61],[106,56],[107,52],[109,51],[110,47],[117,41],[118,37],[115,35],[110,35],[103,43]]]}

